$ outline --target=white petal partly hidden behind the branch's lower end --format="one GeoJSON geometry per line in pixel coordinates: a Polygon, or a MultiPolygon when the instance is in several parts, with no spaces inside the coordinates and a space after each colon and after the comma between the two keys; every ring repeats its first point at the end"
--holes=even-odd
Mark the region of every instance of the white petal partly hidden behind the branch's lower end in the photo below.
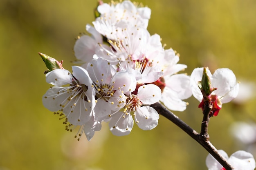
{"type": "MultiPolygon", "coordinates": [[[[222,155],[222,157],[227,160],[229,159],[227,153],[224,150],[218,151],[222,155]]],[[[223,168],[223,166],[211,154],[206,157],[206,166],[209,170],[221,170],[221,168],[223,168]]]]}

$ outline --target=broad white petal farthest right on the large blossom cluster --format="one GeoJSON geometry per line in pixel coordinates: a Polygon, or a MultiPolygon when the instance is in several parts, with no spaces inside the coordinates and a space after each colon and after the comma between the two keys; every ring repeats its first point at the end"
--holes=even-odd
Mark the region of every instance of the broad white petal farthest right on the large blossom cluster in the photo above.
{"type": "Polygon", "coordinates": [[[172,76],[165,76],[165,88],[163,94],[175,93],[175,97],[179,99],[187,99],[191,97],[192,90],[190,86],[190,77],[185,74],[176,74],[172,76]]]}

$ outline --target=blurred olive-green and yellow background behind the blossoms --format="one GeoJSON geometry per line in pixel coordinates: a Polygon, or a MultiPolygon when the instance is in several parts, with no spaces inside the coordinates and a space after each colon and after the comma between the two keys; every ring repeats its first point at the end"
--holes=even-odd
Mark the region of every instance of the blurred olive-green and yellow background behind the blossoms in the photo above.
{"type": "MultiPolygon", "coordinates": [[[[106,1],[109,2],[109,1],[106,1]]],[[[141,0],[152,9],[148,30],[180,53],[189,75],[196,67],[228,67],[238,81],[256,82],[255,0],[141,0]]],[[[94,20],[97,0],[1,0],[0,170],[198,170],[207,151],[164,117],[151,131],[136,125],[116,137],[103,124],[92,141],[74,139],[44,108],[49,88],[38,52],[71,70],[75,37],[94,20]]],[[[255,94],[255,91],[251,91],[255,94]]],[[[174,112],[200,131],[199,102],[174,112]]],[[[231,155],[246,149],[229,132],[235,121],[255,121],[256,99],[222,106],[209,124],[210,140],[231,155]]],[[[256,152],[253,153],[256,156],[256,152]]]]}

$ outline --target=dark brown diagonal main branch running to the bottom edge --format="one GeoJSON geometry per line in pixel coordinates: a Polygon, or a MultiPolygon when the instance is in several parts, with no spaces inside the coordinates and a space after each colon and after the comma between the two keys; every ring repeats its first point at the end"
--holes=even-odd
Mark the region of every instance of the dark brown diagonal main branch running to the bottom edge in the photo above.
{"type": "MultiPolygon", "coordinates": [[[[205,138],[204,132],[201,135],[193,130],[189,125],[187,125],[184,121],[182,121],[179,117],[174,115],[170,110],[166,109],[161,103],[157,102],[155,104],[150,105],[153,107],[159,115],[163,115],[170,121],[172,121],[175,125],[180,127],[184,132],[186,132],[189,136],[191,136],[195,141],[197,141],[201,146],[203,146],[226,170],[233,170],[234,168],[231,166],[231,164],[228,163],[227,159],[222,157],[218,150],[211,144],[209,141],[209,136],[205,138]]],[[[207,122],[208,124],[208,122],[207,122]]],[[[202,123],[202,126],[203,123],[202,123]]]]}

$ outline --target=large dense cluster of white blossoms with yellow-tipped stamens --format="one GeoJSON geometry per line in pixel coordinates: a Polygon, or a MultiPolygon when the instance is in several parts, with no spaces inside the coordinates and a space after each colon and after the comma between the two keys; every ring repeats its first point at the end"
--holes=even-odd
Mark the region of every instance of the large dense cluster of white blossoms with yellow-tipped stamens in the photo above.
{"type": "Polygon", "coordinates": [[[155,128],[159,114],[149,105],[158,101],[185,110],[190,78],[176,73],[187,66],[177,64],[179,54],[148,32],[151,10],[124,1],[100,3],[97,11],[93,26],[86,26],[90,35],[81,35],[74,45],[83,64],[73,66],[72,73],[61,66],[46,74],[54,86],[43,95],[44,106],[61,115],[66,130],[80,126],[76,136],[84,132],[88,140],[102,121],[117,136],[128,135],[134,122],[143,130],[155,128]]]}

